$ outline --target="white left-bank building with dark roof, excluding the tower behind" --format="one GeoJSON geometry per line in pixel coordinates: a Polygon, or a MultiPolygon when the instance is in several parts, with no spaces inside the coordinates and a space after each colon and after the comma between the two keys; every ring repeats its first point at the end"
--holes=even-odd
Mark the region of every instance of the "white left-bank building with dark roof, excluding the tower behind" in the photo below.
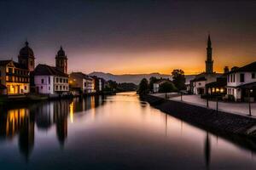
{"type": "Polygon", "coordinates": [[[34,71],[34,83],[38,94],[67,94],[68,75],[56,67],[38,65],[34,71]]]}

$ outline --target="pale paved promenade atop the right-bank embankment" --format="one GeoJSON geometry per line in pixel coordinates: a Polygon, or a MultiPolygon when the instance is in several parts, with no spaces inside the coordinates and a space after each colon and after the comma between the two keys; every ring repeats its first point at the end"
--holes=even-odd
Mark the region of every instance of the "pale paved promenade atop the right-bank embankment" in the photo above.
{"type": "MultiPolygon", "coordinates": [[[[158,96],[161,98],[165,98],[166,94],[153,94],[154,96],[158,96]]],[[[167,94],[170,100],[181,101],[181,97],[177,93],[167,94]]],[[[207,100],[201,99],[200,95],[183,95],[184,103],[188,103],[190,105],[198,105],[202,107],[207,107],[207,100]]],[[[216,101],[209,100],[209,108],[216,109],[216,101]]],[[[218,101],[218,111],[229,112],[241,116],[248,116],[249,114],[249,106],[248,103],[240,103],[240,102],[224,102],[218,101]]],[[[251,103],[251,111],[253,118],[256,118],[256,103],[251,103]]]]}

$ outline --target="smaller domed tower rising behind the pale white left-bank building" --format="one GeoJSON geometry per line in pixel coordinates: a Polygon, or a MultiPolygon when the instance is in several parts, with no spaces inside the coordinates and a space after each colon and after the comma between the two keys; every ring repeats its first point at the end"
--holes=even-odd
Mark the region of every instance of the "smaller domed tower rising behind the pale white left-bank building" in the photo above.
{"type": "Polygon", "coordinates": [[[62,47],[58,51],[58,54],[56,54],[55,66],[57,69],[67,74],[67,55],[65,54],[65,51],[62,47]]]}

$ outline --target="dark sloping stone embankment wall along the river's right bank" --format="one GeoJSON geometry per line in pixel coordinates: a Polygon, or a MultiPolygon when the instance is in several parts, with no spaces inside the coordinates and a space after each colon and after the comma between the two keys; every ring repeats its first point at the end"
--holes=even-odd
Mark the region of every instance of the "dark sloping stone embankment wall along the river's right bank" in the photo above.
{"type": "Polygon", "coordinates": [[[205,107],[162,99],[153,95],[144,95],[141,99],[160,111],[209,132],[236,134],[256,139],[256,119],[253,117],[240,116],[224,111],[217,112],[205,107]]]}

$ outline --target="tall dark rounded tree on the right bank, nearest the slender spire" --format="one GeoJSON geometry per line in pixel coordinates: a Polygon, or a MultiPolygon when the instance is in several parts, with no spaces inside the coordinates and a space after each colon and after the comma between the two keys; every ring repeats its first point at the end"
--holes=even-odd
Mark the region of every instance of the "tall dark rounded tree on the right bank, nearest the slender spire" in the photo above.
{"type": "Polygon", "coordinates": [[[178,90],[186,89],[185,82],[186,78],[184,76],[183,70],[173,70],[172,71],[172,82],[178,90]]]}

